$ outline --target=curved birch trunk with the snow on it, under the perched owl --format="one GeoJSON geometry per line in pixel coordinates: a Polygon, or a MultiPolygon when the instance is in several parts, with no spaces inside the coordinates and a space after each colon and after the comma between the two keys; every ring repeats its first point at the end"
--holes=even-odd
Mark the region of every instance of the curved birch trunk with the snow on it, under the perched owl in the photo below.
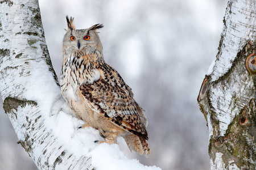
{"type": "Polygon", "coordinates": [[[5,112],[39,169],[160,169],[94,141],[97,130],[65,103],[49,59],[38,1],[0,2],[0,84],[5,112]]]}

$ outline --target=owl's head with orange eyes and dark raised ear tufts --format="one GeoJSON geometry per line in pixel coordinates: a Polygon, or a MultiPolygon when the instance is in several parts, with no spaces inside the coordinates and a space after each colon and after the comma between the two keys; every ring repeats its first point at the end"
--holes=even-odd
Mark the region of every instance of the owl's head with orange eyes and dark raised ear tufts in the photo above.
{"type": "Polygon", "coordinates": [[[102,24],[96,24],[87,29],[75,29],[74,18],[71,17],[69,19],[67,16],[66,19],[68,29],[63,39],[63,50],[69,52],[77,52],[79,50],[102,51],[102,44],[97,32],[97,29],[104,27],[102,24]]]}

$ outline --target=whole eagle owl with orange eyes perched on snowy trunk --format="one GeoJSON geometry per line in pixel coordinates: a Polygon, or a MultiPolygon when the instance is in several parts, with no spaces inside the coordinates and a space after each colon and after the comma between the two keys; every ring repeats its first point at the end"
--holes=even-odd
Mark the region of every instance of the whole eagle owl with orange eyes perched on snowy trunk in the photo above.
{"type": "Polygon", "coordinates": [[[133,99],[131,88],[103,58],[97,30],[102,24],[88,29],[75,29],[73,18],[67,16],[68,29],[63,39],[61,93],[69,106],[86,126],[100,131],[105,141],[117,143],[125,139],[130,150],[146,157],[150,148],[146,140],[147,119],[144,110],[133,99]]]}

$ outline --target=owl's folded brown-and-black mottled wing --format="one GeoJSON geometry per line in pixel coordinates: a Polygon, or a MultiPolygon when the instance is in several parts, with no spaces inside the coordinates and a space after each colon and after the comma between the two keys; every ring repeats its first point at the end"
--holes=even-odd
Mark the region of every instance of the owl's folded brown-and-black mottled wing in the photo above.
{"type": "MultiPolygon", "coordinates": [[[[102,70],[100,71],[102,73],[102,70]]],[[[112,76],[112,79],[105,80],[106,77],[102,75],[99,80],[92,84],[82,84],[79,88],[82,96],[93,111],[105,116],[121,128],[148,139],[145,126],[146,117],[143,114],[143,109],[133,99],[130,87],[123,80],[124,84],[118,82],[115,78],[117,75],[112,76]]],[[[120,75],[118,76],[121,78],[120,75]]]]}

